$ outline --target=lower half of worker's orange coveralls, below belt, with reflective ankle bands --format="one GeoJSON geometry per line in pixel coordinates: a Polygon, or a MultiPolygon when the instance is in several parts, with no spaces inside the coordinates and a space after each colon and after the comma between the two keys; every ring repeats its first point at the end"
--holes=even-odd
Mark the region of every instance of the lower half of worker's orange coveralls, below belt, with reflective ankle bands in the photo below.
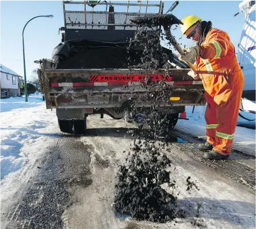
{"type": "Polygon", "coordinates": [[[207,102],[207,142],[221,155],[231,153],[244,85],[240,67],[232,70],[229,74],[202,76],[207,102]]]}

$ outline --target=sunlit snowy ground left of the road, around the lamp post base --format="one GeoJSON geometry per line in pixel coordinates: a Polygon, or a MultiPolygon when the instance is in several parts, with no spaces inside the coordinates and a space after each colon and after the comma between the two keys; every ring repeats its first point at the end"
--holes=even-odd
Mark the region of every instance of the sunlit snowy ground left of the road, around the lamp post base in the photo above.
{"type": "MultiPolygon", "coordinates": [[[[1,99],[1,184],[35,163],[56,126],[56,112],[46,110],[41,97],[1,99]]],[[[18,176],[19,177],[19,176],[18,176]]]]}

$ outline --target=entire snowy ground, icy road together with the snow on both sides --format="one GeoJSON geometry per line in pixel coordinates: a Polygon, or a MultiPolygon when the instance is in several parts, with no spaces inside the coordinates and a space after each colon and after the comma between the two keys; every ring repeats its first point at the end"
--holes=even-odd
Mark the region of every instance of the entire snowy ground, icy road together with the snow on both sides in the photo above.
{"type": "MultiPolygon", "coordinates": [[[[165,224],[136,222],[117,216],[111,206],[133,123],[92,115],[87,135],[71,136],[58,130],[55,110],[46,110],[41,97],[28,101],[1,100],[2,228],[195,228],[193,222],[201,228],[255,228],[255,129],[237,126],[231,160],[207,163],[194,147],[205,138],[205,107],[193,114],[187,107],[189,121],[178,121],[167,153],[176,167],[178,204],[190,215],[165,224]],[[200,190],[186,192],[188,176],[200,190]]],[[[246,124],[255,128],[255,122],[246,124]]]]}

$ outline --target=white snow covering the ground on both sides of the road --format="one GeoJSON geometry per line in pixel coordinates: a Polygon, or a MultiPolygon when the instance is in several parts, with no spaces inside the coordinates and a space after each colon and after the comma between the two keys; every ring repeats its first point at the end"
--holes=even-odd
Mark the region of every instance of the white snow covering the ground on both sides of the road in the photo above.
{"type": "MultiPolygon", "coordinates": [[[[179,120],[176,128],[205,138],[205,108],[195,107],[192,113],[193,107],[186,107],[189,121],[179,120]]],[[[250,113],[242,114],[250,119],[255,118],[250,113]]],[[[240,117],[238,123],[255,126],[255,121],[244,121],[240,117]]],[[[1,183],[10,176],[15,177],[27,164],[35,163],[38,153],[46,148],[46,138],[56,137],[50,131],[53,127],[57,127],[56,112],[46,110],[42,96],[30,96],[27,103],[24,97],[1,99],[1,183]]],[[[236,127],[234,148],[239,147],[255,155],[254,129],[236,127]]]]}

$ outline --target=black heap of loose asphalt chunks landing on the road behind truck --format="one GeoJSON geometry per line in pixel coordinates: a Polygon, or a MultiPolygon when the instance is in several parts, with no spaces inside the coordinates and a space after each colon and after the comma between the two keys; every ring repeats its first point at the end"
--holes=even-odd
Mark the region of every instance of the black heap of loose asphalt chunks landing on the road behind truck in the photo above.
{"type": "Polygon", "coordinates": [[[185,212],[177,208],[177,197],[161,187],[167,183],[175,189],[175,181],[166,171],[171,160],[161,152],[163,145],[157,147],[154,141],[141,140],[133,144],[117,174],[116,210],[137,220],[159,223],[185,217],[185,212]]]}

